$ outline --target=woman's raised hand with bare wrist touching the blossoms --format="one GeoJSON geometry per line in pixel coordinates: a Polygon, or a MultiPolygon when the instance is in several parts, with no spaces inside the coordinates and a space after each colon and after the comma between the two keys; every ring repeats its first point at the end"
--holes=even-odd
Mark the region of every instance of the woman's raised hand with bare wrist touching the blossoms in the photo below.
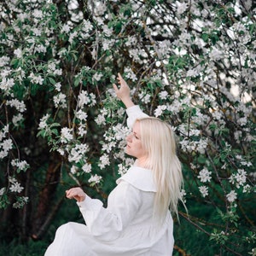
{"type": "Polygon", "coordinates": [[[134,105],[134,103],[131,101],[130,96],[130,88],[128,84],[126,84],[125,79],[122,78],[120,73],[118,73],[118,80],[120,84],[120,88],[117,87],[116,84],[113,84],[113,90],[116,93],[116,96],[125,104],[126,108],[130,108],[134,105]]]}

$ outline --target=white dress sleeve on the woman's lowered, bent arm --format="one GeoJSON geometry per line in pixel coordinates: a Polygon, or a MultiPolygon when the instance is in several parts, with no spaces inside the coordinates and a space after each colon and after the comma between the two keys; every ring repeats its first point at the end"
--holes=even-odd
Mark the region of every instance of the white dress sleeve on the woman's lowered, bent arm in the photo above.
{"type": "Polygon", "coordinates": [[[107,208],[102,206],[102,201],[89,196],[77,204],[90,233],[100,240],[112,241],[137,214],[141,205],[140,190],[124,181],[109,195],[107,208]]]}

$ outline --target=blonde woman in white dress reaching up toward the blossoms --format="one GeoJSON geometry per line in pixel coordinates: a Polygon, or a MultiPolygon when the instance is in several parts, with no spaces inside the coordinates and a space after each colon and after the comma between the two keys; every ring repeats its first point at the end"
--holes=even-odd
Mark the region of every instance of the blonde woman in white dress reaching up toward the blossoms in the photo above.
{"type": "Polygon", "coordinates": [[[172,129],[148,117],[131,101],[130,88],[119,74],[113,89],[124,102],[127,123],[126,154],[135,165],[117,180],[108,207],[80,188],[67,190],[75,199],[85,223],[63,224],[45,256],[171,256],[174,244],[172,212],[177,214],[182,172],[172,129]]]}

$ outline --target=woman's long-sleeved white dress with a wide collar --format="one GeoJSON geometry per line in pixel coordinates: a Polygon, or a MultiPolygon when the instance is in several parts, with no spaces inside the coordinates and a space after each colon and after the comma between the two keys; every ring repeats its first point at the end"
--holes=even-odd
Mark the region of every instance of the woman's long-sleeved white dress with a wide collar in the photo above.
{"type": "MultiPolygon", "coordinates": [[[[147,116],[138,106],[126,109],[127,123],[147,116]]],[[[56,231],[44,256],[172,256],[172,215],[160,224],[153,217],[156,187],[150,170],[131,166],[102,201],[86,196],[77,202],[85,224],[67,223],[56,231]]]]}

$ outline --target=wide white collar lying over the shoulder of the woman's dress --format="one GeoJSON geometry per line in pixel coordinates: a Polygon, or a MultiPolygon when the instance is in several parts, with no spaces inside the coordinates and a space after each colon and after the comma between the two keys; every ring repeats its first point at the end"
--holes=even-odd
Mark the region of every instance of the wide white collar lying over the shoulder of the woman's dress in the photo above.
{"type": "Polygon", "coordinates": [[[154,183],[153,172],[142,167],[131,166],[128,172],[117,179],[116,183],[119,184],[122,180],[143,191],[157,191],[154,183]]]}

